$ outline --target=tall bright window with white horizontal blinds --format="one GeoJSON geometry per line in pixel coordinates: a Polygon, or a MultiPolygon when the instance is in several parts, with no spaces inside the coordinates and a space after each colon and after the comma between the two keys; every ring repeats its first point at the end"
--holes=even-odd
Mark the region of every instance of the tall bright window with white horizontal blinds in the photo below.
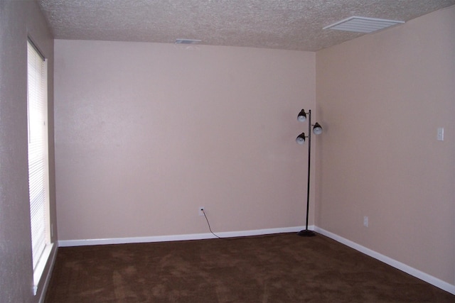
{"type": "Polygon", "coordinates": [[[31,41],[28,41],[27,62],[28,196],[36,294],[52,246],[48,198],[47,62],[31,41]]]}

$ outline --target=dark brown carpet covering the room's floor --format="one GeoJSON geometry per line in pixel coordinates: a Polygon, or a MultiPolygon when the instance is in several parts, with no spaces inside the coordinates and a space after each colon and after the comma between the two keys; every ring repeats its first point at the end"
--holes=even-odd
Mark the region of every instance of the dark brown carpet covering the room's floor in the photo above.
{"type": "Polygon", "coordinates": [[[341,243],[295,233],[59,248],[45,302],[455,302],[341,243]]]}

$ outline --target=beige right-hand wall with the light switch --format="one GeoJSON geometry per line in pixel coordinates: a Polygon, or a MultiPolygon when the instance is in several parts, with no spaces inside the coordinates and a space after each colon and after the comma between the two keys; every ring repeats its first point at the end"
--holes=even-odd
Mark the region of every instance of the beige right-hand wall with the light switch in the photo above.
{"type": "Polygon", "coordinates": [[[452,6],[316,54],[316,225],[451,285],[454,37],[452,6]]]}

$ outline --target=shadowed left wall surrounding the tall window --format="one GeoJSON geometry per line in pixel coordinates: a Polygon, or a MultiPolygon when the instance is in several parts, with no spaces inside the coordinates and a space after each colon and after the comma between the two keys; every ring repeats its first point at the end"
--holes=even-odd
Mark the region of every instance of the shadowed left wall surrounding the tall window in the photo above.
{"type": "MultiPolygon", "coordinates": [[[[53,38],[36,1],[0,1],[0,302],[33,296],[27,165],[27,36],[48,59],[50,221],[55,227],[53,38]]],[[[53,241],[57,238],[54,232],[53,241]]],[[[55,247],[55,246],[54,246],[55,247]]],[[[53,252],[55,253],[55,251],[53,252]]],[[[44,276],[48,274],[48,268],[44,276]]]]}

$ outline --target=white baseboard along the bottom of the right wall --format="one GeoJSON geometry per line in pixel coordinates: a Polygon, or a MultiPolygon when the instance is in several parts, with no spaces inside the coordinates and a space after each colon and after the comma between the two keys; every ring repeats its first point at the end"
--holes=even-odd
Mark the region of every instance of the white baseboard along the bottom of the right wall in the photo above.
{"type": "Polygon", "coordinates": [[[420,280],[424,280],[425,282],[428,282],[431,285],[434,285],[436,287],[439,287],[441,290],[445,290],[446,292],[450,292],[451,294],[455,294],[455,285],[451,285],[448,282],[445,282],[443,280],[438,279],[437,277],[433,277],[432,275],[428,275],[425,272],[422,272],[420,270],[417,270],[415,268],[410,267],[409,265],[406,265],[405,263],[401,263],[400,261],[394,260],[392,258],[387,257],[386,255],[382,255],[374,250],[370,250],[370,248],[366,248],[365,246],[361,246],[353,241],[350,241],[346,238],[343,238],[341,236],[336,235],[335,233],[331,233],[330,231],[326,231],[323,228],[315,227],[314,231],[317,233],[321,233],[324,236],[328,236],[328,238],[332,238],[335,241],[338,241],[340,243],[343,243],[346,246],[349,246],[350,248],[354,248],[355,250],[360,251],[360,253],[365,253],[365,255],[369,255],[370,257],[373,257],[377,260],[382,261],[383,263],[386,263],[394,268],[397,268],[399,270],[402,270],[414,277],[419,278],[420,280]]]}

